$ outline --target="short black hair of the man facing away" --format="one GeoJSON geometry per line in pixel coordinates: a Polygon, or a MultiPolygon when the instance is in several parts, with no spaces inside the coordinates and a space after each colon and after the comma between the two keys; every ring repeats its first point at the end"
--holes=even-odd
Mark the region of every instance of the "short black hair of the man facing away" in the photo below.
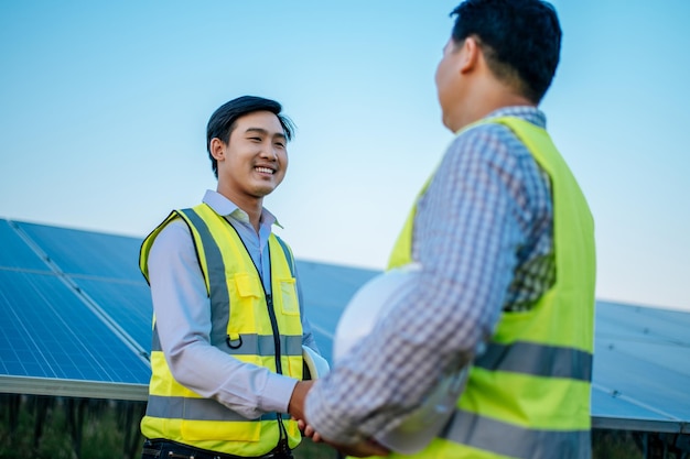
{"type": "Polygon", "coordinates": [[[494,75],[539,103],[561,51],[553,7],[541,0],[466,0],[451,15],[457,15],[453,42],[477,39],[494,75]]]}

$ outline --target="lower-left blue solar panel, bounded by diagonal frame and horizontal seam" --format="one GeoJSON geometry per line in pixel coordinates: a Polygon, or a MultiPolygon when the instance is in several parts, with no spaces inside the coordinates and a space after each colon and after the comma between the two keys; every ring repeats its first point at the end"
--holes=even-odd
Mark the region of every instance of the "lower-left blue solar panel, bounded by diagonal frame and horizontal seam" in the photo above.
{"type": "Polygon", "coordinates": [[[0,271],[0,374],[147,384],[150,370],[56,276],[0,271]]]}

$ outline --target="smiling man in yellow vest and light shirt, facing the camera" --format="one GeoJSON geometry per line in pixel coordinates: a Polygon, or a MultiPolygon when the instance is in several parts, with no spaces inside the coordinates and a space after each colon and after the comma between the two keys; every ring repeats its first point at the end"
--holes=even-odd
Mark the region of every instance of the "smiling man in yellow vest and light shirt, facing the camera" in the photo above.
{"type": "Polygon", "coordinates": [[[288,168],[290,119],[245,96],[207,125],[218,179],[144,240],[154,326],[142,458],[291,458],[300,431],[302,346],[316,349],[290,248],[263,197],[288,168]],[[289,414],[288,414],[289,413],[289,414]]]}

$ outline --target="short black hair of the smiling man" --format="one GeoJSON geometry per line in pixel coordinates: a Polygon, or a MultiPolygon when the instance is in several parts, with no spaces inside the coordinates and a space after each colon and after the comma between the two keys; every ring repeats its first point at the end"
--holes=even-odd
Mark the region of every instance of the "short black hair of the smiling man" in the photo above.
{"type": "Polygon", "coordinates": [[[217,138],[227,144],[235,129],[236,121],[245,114],[254,113],[255,111],[270,111],[274,113],[280,121],[280,125],[282,125],[285,139],[288,141],[292,140],[294,123],[290,118],[281,114],[282,106],[276,100],[256,96],[242,96],[222,105],[213,112],[206,125],[206,150],[208,151],[211,166],[216,178],[218,178],[218,161],[211,154],[211,141],[217,138]]]}

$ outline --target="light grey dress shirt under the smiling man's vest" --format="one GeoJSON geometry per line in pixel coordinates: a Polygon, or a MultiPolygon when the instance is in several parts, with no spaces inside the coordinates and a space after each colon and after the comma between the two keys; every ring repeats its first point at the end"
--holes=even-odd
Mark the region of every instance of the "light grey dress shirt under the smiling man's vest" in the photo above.
{"type": "MultiPolygon", "coordinates": [[[[204,203],[235,227],[270,293],[268,238],[276,217],[263,209],[257,233],[249,216],[223,195],[207,190],[204,203]]],[[[244,363],[211,346],[211,304],[192,236],[182,220],[172,221],[155,238],[149,254],[149,278],[161,348],[177,382],[247,418],[287,413],[298,380],[244,363]]],[[[302,342],[317,350],[303,314],[299,276],[298,295],[302,342]]]]}

